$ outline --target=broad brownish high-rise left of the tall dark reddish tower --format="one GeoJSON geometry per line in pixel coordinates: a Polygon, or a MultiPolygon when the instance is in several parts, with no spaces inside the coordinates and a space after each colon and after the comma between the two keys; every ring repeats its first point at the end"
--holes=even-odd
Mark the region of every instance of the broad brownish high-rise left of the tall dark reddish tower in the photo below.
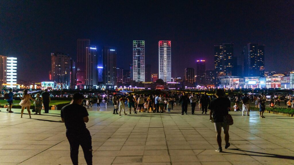
{"type": "Polygon", "coordinates": [[[70,86],[71,57],[64,53],[51,53],[52,81],[58,88],[70,86]]]}

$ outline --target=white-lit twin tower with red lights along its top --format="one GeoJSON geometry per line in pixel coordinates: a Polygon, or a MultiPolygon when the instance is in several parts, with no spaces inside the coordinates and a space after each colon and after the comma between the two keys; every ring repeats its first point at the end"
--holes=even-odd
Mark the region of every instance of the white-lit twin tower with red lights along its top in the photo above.
{"type": "Polygon", "coordinates": [[[158,42],[158,75],[164,82],[171,81],[171,41],[158,42]]]}

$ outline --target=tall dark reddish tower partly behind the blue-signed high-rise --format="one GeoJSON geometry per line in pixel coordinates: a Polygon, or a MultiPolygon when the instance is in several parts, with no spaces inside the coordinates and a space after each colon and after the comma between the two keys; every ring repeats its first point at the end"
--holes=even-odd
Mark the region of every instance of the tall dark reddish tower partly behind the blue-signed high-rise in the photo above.
{"type": "Polygon", "coordinates": [[[89,39],[78,39],[77,40],[77,86],[83,89],[86,79],[86,47],[90,46],[89,39]]]}

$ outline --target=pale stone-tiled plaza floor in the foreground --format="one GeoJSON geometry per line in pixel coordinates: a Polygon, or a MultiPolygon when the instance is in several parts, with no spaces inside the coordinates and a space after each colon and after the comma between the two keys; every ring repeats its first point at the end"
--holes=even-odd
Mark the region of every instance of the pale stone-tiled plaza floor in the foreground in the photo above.
{"type": "MultiPolygon", "coordinates": [[[[218,153],[209,115],[196,111],[113,115],[113,106],[93,106],[86,124],[92,135],[93,164],[101,165],[261,165],[294,164],[294,118],[258,112],[230,112],[228,149],[218,153]]],[[[60,111],[48,115],[0,112],[0,165],[71,164],[60,111]]],[[[26,111],[26,110],[25,110],[26,111]]],[[[44,111],[44,110],[43,110],[44,111]]],[[[123,113],[122,113],[123,114],[123,113]]],[[[223,136],[223,134],[222,134],[223,136]]],[[[224,140],[223,140],[224,143],[224,140]]],[[[223,144],[224,147],[224,144],[223,144]]],[[[80,147],[79,164],[86,164],[80,147]]]]}

